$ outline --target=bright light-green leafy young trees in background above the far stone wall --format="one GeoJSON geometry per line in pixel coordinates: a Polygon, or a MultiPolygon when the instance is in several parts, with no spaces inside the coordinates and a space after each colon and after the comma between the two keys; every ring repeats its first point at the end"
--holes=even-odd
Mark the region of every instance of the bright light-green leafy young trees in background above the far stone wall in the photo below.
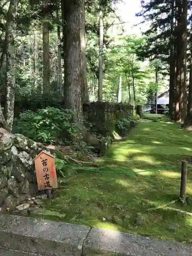
{"type": "Polygon", "coordinates": [[[117,100],[119,79],[122,77],[122,101],[146,102],[145,89],[153,79],[153,70],[146,62],[137,59],[136,50],[142,41],[135,35],[120,37],[107,52],[108,73],[105,75],[103,94],[111,95],[113,101],[117,100]]]}

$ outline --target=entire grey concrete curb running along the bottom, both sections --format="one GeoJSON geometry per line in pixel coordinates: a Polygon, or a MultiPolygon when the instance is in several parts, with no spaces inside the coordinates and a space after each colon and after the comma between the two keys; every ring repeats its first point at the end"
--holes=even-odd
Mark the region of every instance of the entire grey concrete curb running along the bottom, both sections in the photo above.
{"type": "MultiPolygon", "coordinates": [[[[191,256],[192,245],[128,233],[0,214],[2,255],[191,256]]],[[[1,250],[0,250],[1,252],[1,250]]],[[[0,253],[1,255],[1,253],[0,253]]]]}

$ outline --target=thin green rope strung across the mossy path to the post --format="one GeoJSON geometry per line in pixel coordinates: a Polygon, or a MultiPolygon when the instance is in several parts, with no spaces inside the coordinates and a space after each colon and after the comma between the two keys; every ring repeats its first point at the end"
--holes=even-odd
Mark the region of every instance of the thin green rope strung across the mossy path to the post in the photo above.
{"type": "Polygon", "coordinates": [[[79,170],[89,170],[90,172],[111,173],[111,174],[137,174],[137,173],[146,173],[146,172],[157,172],[158,170],[173,169],[173,168],[181,166],[181,165],[175,165],[175,166],[162,167],[162,168],[158,168],[158,169],[141,170],[139,172],[111,172],[111,171],[108,171],[108,170],[87,169],[87,168],[76,167],[76,166],[71,166],[71,165],[67,165],[67,164],[63,164],[63,165],[66,166],[66,167],[75,168],[75,169],[79,169],[79,170]]]}

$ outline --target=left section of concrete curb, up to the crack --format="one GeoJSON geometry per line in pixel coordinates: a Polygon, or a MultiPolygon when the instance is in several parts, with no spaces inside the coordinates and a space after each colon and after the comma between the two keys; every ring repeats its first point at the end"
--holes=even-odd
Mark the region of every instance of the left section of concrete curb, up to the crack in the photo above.
{"type": "Polygon", "coordinates": [[[45,256],[82,254],[90,227],[0,215],[0,247],[45,256]]]}

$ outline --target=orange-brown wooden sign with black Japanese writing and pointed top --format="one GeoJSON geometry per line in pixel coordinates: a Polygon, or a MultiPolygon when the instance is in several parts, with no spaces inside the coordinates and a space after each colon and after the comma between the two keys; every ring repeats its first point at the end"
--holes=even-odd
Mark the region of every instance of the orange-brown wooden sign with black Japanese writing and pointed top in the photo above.
{"type": "Polygon", "coordinates": [[[34,162],[38,190],[57,188],[55,157],[42,151],[35,157],[34,162]]]}

